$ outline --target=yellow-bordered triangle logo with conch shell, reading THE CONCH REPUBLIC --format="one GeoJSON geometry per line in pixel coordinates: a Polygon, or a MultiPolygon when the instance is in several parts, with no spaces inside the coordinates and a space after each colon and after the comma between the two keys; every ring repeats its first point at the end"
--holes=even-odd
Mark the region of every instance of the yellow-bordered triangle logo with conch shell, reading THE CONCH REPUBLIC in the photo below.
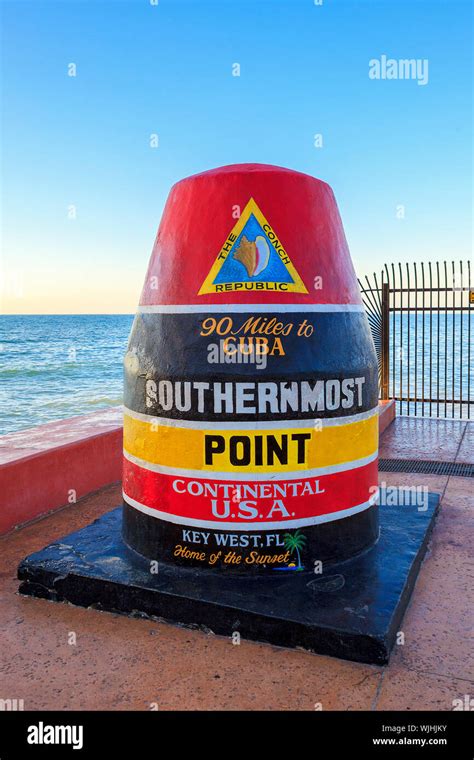
{"type": "Polygon", "coordinates": [[[253,198],[229,233],[198,295],[249,290],[308,292],[253,198]]]}

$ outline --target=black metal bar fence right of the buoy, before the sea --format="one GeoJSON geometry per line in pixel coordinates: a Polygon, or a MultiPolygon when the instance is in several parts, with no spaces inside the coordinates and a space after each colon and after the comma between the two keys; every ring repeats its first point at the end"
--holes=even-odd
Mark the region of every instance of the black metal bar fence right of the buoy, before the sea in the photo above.
{"type": "Polygon", "coordinates": [[[470,419],[470,261],[386,264],[359,285],[379,359],[380,397],[396,399],[399,414],[470,419]]]}

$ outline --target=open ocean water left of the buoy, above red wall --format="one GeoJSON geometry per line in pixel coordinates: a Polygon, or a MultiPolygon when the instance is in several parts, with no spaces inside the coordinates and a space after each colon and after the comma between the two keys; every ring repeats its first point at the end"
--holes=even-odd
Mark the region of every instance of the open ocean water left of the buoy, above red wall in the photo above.
{"type": "Polygon", "coordinates": [[[122,403],[133,315],[0,316],[0,434],[122,403]]]}

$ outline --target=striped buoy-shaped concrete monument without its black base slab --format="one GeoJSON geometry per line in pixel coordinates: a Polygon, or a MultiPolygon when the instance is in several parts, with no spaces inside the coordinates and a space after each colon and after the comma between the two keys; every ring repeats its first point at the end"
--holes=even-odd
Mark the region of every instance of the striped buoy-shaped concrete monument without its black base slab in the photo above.
{"type": "Polygon", "coordinates": [[[377,539],[377,358],[328,185],[249,164],[174,186],[124,404],[145,557],[301,571],[377,539]]]}

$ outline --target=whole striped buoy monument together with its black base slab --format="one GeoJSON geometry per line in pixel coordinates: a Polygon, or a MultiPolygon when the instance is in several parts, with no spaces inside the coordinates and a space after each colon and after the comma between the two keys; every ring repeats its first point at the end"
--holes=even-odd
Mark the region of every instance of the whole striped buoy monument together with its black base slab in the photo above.
{"type": "Polygon", "coordinates": [[[171,190],[124,360],[123,504],[20,592],[387,662],[439,497],[378,494],[377,357],[331,188],[171,190]]]}

